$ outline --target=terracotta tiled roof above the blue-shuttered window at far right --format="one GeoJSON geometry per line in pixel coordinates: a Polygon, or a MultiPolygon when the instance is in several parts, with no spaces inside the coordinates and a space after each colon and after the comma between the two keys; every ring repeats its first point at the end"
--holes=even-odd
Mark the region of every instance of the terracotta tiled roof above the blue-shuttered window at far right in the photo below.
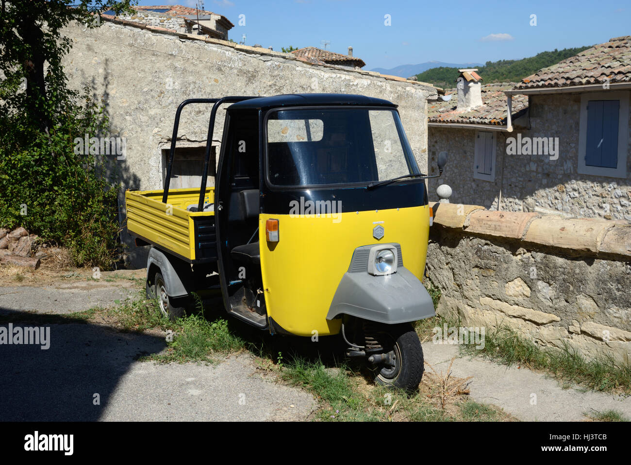
{"type": "Polygon", "coordinates": [[[631,35],[566,58],[521,80],[516,89],[631,82],[631,35]]]}

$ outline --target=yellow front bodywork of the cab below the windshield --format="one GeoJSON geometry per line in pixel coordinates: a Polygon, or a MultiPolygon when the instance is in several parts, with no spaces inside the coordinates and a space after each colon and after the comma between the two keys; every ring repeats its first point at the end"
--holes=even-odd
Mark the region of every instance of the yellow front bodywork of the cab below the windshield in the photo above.
{"type": "Polygon", "coordinates": [[[268,316],[293,334],[338,334],[340,320],[326,320],[338,284],[360,246],[399,243],[403,265],[423,280],[429,208],[348,212],[332,217],[259,215],[261,272],[268,316]],[[278,219],[279,241],[268,243],[265,223],[278,219]],[[372,230],[380,224],[385,235],[372,230]]]}

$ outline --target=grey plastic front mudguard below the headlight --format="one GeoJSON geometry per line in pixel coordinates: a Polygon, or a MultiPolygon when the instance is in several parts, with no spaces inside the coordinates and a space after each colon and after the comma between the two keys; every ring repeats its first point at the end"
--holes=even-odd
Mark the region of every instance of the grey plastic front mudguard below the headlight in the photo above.
{"type": "Polygon", "coordinates": [[[351,315],[379,323],[414,322],[436,315],[423,283],[405,267],[386,276],[345,273],[333,296],[327,320],[351,315]]]}

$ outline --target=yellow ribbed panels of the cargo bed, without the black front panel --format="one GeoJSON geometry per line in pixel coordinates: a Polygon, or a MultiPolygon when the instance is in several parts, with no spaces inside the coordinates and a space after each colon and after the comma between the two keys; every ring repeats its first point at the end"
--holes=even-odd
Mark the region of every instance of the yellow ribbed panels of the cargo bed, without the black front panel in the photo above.
{"type": "MultiPolygon", "coordinates": [[[[197,205],[199,188],[172,189],[167,203],[162,190],[126,191],[127,229],[150,243],[160,245],[188,260],[195,260],[193,217],[212,216],[215,212],[189,212],[197,205]]],[[[213,202],[215,188],[206,188],[204,203],[213,202]]]]}

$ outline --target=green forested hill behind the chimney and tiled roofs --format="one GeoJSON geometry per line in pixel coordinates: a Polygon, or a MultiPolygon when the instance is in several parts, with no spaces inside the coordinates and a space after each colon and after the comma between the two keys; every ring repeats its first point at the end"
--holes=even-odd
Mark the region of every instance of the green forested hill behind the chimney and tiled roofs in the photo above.
{"type": "MultiPolygon", "coordinates": [[[[574,49],[554,49],[552,52],[541,52],[535,56],[522,58],[520,60],[500,60],[487,61],[484,66],[478,66],[478,74],[482,77],[483,83],[492,82],[519,82],[526,76],[530,76],[541,68],[547,68],[570,56],[589,49],[587,47],[576,47],[574,49]]],[[[437,87],[456,87],[458,68],[461,66],[440,66],[439,68],[428,69],[416,75],[419,81],[433,84],[437,87]]],[[[470,66],[469,66],[470,68],[470,66]]]]}

